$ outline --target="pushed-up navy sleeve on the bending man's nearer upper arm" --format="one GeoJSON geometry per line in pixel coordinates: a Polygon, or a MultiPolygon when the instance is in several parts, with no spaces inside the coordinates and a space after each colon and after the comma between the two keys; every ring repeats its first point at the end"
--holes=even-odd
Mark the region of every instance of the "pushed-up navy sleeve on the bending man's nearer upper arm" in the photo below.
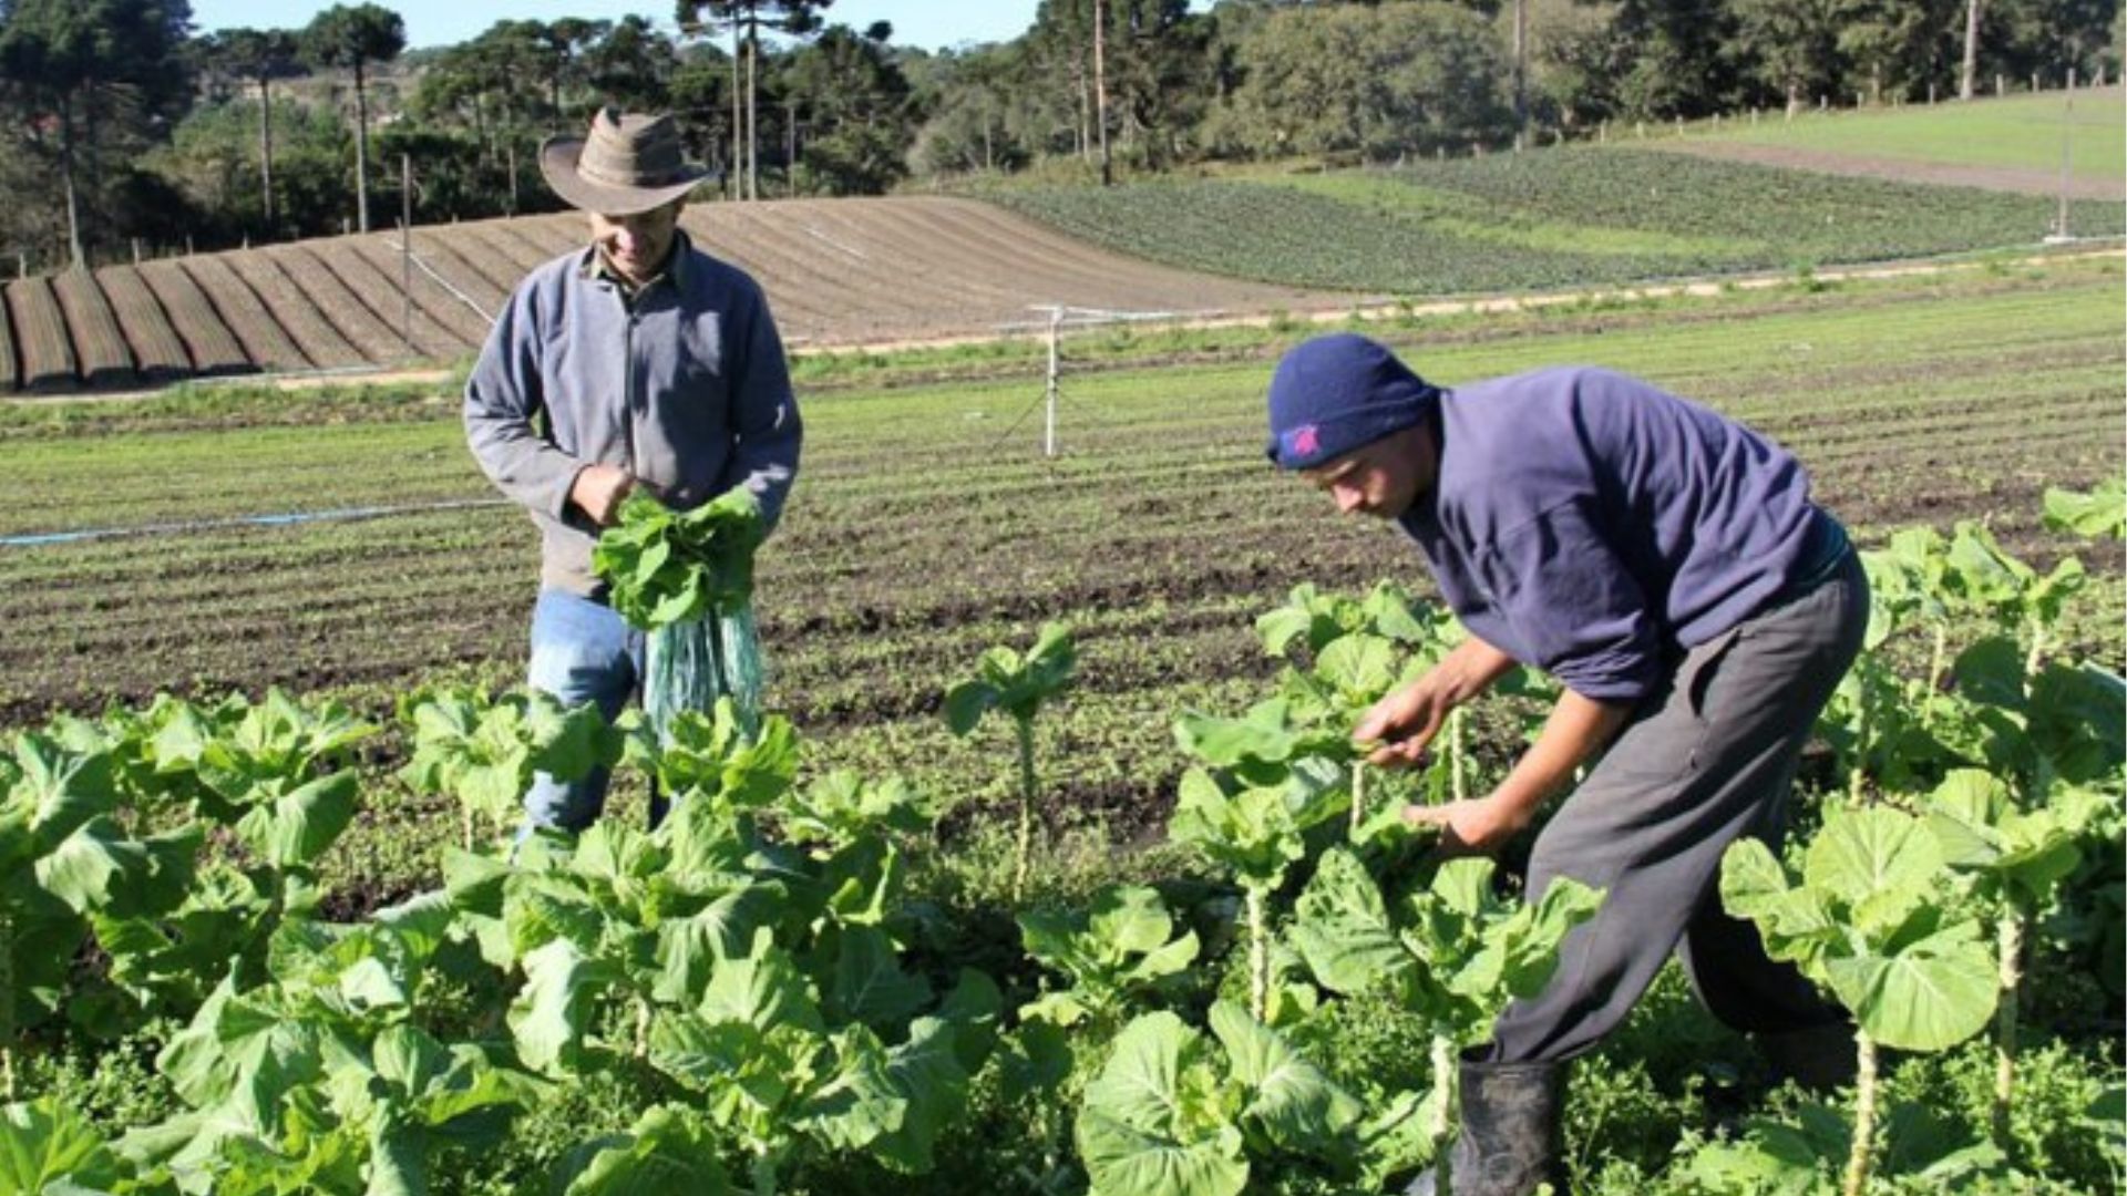
{"type": "Polygon", "coordinates": [[[1604,702],[1636,702],[1661,677],[1646,594],[1582,498],[1493,541],[1480,562],[1491,604],[1529,664],[1604,702]]]}

